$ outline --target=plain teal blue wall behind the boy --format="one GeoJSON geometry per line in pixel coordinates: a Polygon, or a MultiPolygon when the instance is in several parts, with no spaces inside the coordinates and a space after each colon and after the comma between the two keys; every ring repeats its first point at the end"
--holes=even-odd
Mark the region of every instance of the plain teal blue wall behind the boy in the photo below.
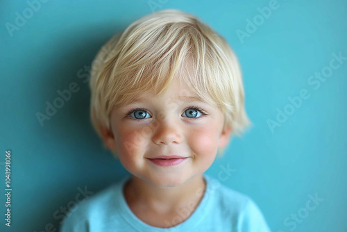
{"type": "MultiPolygon", "coordinates": [[[[158,1],[155,1],[158,2],[158,1]]],[[[347,231],[347,62],[318,90],[307,83],[347,56],[346,1],[278,1],[278,8],[242,43],[237,29],[270,1],[161,1],[160,7],[193,13],[231,44],[244,73],[246,110],[253,127],[232,140],[206,173],[254,199],[272,231],[291,231],[284,220],[305,208],[309,194],[324,200],[293,231],[347,231]],[[271,131],[288,97],[306,89],[310,98],[271,131]]],[[[29,8],[26,1],[0,4],[0,231],[58,228],[53,213],[74,200],[78,187],[99,192],[127,175],[104,151],[89,119],[84,69],[114,33],[152,12],[148,1],[47,1],[12,37],[6,23],[29,8]],[[80,76],[81,77],[81,76],[80,76]],[[78,92],[41,126],[36,113],[76,82],[78,92]],[[5,151],[12,153],[12,226],[4,226],[5,151]]],[[[290,220],[294,222],[294,220],[290,220]]]]}

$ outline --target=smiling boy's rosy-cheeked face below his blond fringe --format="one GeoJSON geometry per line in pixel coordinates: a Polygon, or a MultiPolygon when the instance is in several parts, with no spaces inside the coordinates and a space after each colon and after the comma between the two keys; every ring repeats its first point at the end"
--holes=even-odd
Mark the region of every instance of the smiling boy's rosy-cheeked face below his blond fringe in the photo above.
{"type": "Polygon", "coordinates": [[[153,185],[173,187],[202,175],[212,165],[217,149],[228,142],[231,130],[223,129],[221,110],[182,96],[196,94],[179,81],[174,81],[162,97],[142,94],[137,103],[113,108],[111,130],[103,133],[105,143],[117,152],[128,172],[153,185]],[[141,110],[133,111],[135,108],[141,110]],[[172,155],[186,158],[171,166],[149,160],[172,155]]]}

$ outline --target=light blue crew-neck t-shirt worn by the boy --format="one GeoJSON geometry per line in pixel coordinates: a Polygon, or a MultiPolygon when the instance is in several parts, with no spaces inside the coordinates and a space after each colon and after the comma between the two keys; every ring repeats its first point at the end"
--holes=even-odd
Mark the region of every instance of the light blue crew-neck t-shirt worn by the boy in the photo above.
{"type": "Polygon", "coordinates": [[[203,177],[203,199],[192,215],[176,226],[159,228],[142,222],[126,203],[123,189],[130,178],[126,176],[73,208],[60,232],[270,232],[252,199],[207,174],[203,177]]]}

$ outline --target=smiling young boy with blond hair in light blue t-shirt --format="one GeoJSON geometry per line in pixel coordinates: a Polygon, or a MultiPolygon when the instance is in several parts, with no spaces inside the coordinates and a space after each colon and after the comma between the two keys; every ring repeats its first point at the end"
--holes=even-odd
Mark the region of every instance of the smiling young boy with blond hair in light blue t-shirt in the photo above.
{"type": "Polygon", "coordinates": [[[110,39],[92,64],[91,119],[130,172],[79,204],[67,231],[259,231],[246,195],[204,172],[250,124],[239,64],[194,15],[162,10],[110,39]]]}

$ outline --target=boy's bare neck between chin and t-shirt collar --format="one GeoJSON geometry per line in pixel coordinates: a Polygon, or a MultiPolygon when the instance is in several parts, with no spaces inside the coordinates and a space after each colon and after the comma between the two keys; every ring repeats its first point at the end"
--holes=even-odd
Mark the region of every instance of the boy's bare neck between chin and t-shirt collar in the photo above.
{"type": "Polygon", "coordinates": [[[156,213],[171,213],[185,208],[193,212],[203,198],[205,188],[203,174],[171,188],[152,185],[132,176],[125,185],[124,194],[130,208],[140,206],[156,213]]]}

